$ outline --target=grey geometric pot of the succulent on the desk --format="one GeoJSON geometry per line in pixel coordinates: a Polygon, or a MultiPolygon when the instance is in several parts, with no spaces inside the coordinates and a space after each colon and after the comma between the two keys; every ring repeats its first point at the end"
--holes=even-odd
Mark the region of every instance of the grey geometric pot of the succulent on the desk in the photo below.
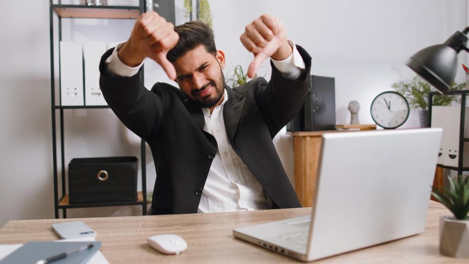
{"type": "Polygon", "coordinates": [[[440,253],[452,258],[469,258],[469,220],[453,216],[440,218],[440,253]]]}

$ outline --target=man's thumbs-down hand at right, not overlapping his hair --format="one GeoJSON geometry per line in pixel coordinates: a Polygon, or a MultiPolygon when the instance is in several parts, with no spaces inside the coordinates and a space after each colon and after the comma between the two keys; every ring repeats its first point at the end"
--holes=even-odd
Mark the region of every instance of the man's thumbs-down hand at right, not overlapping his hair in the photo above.
{"type": "Polygon", "coordinates": [[[293,52],[285,38],[282,23],[274,16],[262,15],[246,26],[240,37],[243,45],[252,53],[254,60],[249,65],[248,77],[254,78],[259,65],[268,57],[281,61],[293,52]]]}

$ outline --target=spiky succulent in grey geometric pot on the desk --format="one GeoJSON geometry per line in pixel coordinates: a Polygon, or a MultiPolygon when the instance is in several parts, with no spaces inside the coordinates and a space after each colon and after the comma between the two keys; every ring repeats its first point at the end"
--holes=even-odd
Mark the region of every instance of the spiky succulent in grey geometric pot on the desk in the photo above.
{"type": "Polygon", "coordinates": [[[452,216],[440,218],[440,253],[453,258],[469,258],[469,177],[448,176],[450,189],[433,187],[432,195],[445,205],[452,216]]]}

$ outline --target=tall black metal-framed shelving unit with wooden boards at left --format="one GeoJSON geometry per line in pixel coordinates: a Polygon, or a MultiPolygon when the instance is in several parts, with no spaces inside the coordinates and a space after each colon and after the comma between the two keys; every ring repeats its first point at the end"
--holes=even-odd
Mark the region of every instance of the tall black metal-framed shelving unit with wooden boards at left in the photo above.
{"type": "MultiPolygon", "coordinates": [[[[103,202],[103,203],[86,203],[86,204],[70,204],[65,188],[65,161],[64,161],[64,110],[67,109],[108,109],[109,106],[61,106],[56,104],[55,99],[55,65],[54,65],[54,14],[58,17],[58,35],[59,43],[62,40],[62,19],[63,18],[95,18],[95,19],[136,19],[145,12],[146,1],[139,0],[139,6],[85,6],[85,5],[63,5],[61,1],[54,4],[49,0],[49,23],[50,23],[50,79],[51,79],[51,116],[52,116],[52,155],[53,155],[53,174],[54,174],[54,211],[55,218],[59,218],[59,210],[63,210],[63,217],[66,218],[66,209],[85,208],[85,207],[103,207],[103,206],[124,206],[124,205],[141,205],[142,215],[147,212],[147,176],[146,176],[146,152],[145,141],[141,140],[140,164],[142,168],[142,192],[138,192],[138,199],[134,202],[103,202]],[[58,169],[57,169],[57,116],[59,111],[60,126],[60,152],[61,152],[61,172],[62,172],[62,192],[59,197],[58,186],[58,169]]],[[[60,52],[59,52],[60,62],[60,52]]],[[[142,73],[143,78],[143,73],[142,73]]],[[[60,66],[59,66],[60,79],[60,66]]],[[[60,82],[59,82],[60,91],[60,82]]],[[[60,92],[59,92],[60,94],[60,92]]]]}

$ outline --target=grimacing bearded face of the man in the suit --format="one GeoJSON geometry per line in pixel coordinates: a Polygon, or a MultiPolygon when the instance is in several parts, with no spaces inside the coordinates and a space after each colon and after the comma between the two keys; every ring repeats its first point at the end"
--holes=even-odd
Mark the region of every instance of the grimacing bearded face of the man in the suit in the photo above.
{"type": "Polygon", "coordinates": [[[213,56],[203,45],[188,51],[172,63],[179,88],[202,108],[215,106],[224,92],[225,77],[220,66],[224,60],[223,52],[213,56]]]}

